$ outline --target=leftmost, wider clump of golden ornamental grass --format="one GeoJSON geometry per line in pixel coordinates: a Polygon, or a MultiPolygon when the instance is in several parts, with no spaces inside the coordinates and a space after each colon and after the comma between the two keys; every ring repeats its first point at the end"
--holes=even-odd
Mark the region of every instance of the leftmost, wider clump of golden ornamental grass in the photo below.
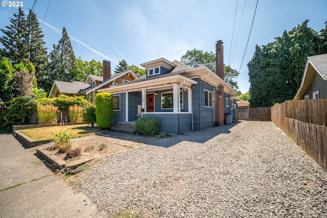
{"type": "Polygon", "coordinates": [[[55,124],[57,122],[58,107],[50,105],[36,105],[39,124],[55,124]]]}

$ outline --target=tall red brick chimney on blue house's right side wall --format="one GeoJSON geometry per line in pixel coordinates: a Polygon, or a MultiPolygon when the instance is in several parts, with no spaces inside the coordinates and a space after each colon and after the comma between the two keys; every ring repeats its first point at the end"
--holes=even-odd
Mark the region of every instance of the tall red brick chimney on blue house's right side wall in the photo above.
{"type": "MultiPolygon", "coordinates": [[[[221,40],[216,43],[216,74],[224,79],[224,46],[221,40]]],[[[215,98],[215,126],[224,125],[224,86],[219,84],[214,89],[215,98]]]]}

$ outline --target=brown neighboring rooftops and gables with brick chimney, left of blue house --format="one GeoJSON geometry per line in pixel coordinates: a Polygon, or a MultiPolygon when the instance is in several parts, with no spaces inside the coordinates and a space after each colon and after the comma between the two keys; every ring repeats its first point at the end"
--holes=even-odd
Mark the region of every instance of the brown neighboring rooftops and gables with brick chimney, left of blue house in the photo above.
{"type": "MultiPolygon", "coordinates": [[[[73,95],[92,95],[95,96],[96,90],[106,85],[117,85],[135,80],[137,77],[131,70],[110,75],[110,62],[103,61],[103,77],[89,74],[85,82],[64,82],[54,81],[49,98],[57,97],[60,94],[73,95]]],[[[109,86],[108,86],[109,87],[109,86]]]]}

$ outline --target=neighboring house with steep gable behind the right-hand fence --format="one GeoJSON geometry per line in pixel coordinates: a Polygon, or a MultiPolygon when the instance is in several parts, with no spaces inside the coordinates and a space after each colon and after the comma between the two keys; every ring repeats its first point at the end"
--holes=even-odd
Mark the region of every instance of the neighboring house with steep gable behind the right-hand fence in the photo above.
{"type": "Polygon", "coordinates": [[[327,99],[327,54],[308,57],[293,100],[300,99],[327,99]]]}

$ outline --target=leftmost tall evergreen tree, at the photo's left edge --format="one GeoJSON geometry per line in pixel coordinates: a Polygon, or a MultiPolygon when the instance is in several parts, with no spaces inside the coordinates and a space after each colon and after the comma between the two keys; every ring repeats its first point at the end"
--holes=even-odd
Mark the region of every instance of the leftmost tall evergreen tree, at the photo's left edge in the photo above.
{"type": "Polygon", "coordinates": [[[8,58],[13,64],[28,63],[25,14],[21,8],[18,8],[18,14],[13,15],[14,18],[10,18],[11,25],[6,26],[6,30],[1,29],[4,36],[0,37],[0,42],[4,48],[0,50],[0,53],[2,57],[8,58]]]}

